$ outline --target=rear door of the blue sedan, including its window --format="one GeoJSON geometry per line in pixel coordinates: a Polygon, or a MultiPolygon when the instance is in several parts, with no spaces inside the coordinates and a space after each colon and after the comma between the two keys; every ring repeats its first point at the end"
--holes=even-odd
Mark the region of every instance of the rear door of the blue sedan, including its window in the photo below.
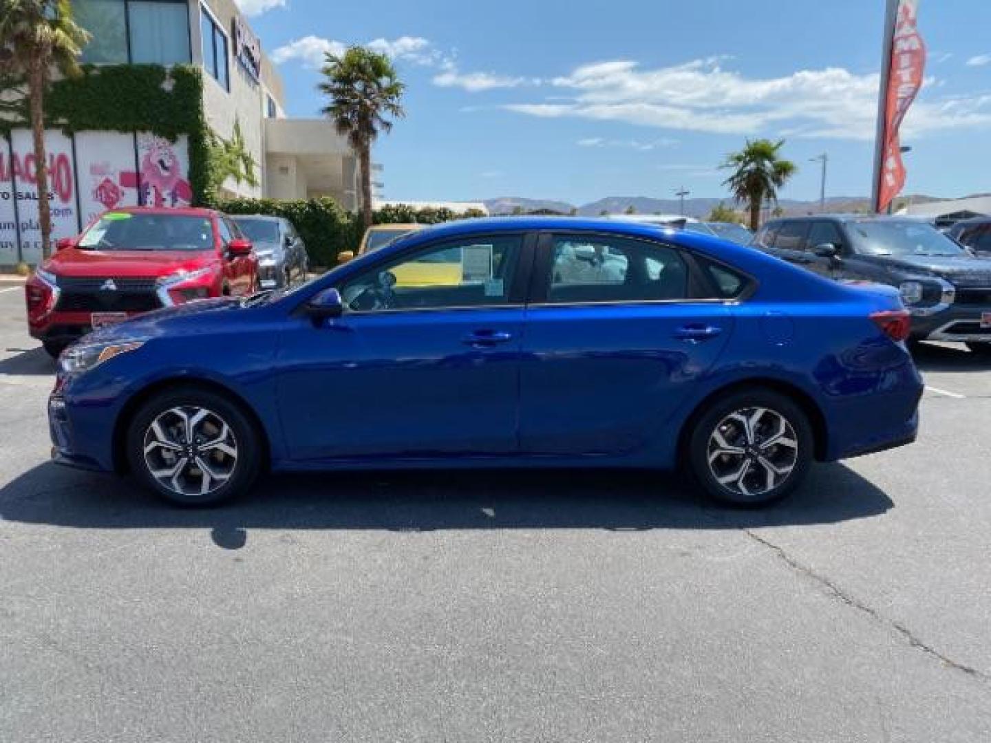
{"type": "Polygon", "coordinates": [[[543,236],[520,366],[521,452],[616,454],[658,436],[732,332],[700,283],[696,262],[670,245],[543,236]]]}

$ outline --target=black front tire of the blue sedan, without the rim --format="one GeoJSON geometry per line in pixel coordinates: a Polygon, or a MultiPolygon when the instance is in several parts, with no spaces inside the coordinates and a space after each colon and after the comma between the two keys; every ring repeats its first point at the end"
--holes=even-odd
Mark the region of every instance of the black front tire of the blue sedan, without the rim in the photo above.
{"type": "MultiPolygon", "coordinates": [[[[175,428],[183,428],[183,426],[178,424],[175,428]]],[[[125,443],[128,463],[132,474],[142,484],[171,503],[185,506],[214,505],[245,494],[258,479],[262,469],[263,451],[260,444],[261,432],[256,429],[256,424],[252,422],[242,407],[222,394],[197,386],[167,389],[142,405],[128,424],[125,443]],[[169,416],[171,414],[168,411],[176,408],[186,411],[193,409],[208,411],[210,415],[200,424],[203,427],[201,430],[205,433],[204,439],[206,436],[213,435],[213,432],[222,431],[219,425],[222,423],[227,424],[229,433],[233,437],[233,439],[227,438],[224,441],[227,449],[233,448],[236,453],[233,464],[230,463],[229,456],[224,452],[214,450],[207,453],[205,449],[199,450],[198,444],[194,448],[190,448],[181,433],[177,437],[168,437],[170,442],[181,443],[179,447],[181,451],[175,453],[156,450],[154,455],[150,455],[160,462],[164,469],[177,464],[175,460],[165,461],[163,458],[166,454],[170,454],[172,457],[192,454],[193,459],[196,456],[201,457],[209,463],[207,469],[213,470],[213,474],[217,476],[216,481],[222,482],[208,492],[194,491],[197,482],[201,484],[203,480],[208,479],[197,466],[190,466],[185,469],[185,475],[180,477],[177,482],[179,489],[186,489],[184,485],[188,484],[190,485],[189,489],[193,491],[180,492],[172,486],[166,486],[160,478],[156,478],[146,459],[145,448],[150,440],[149,437],[154,440],[159,439],[157,435],[152,433],[153,422],[158,419],[160,430],[167,428],[165,423],[168,418],[160,416],[169,416]],[[213,458],[217,458],[216,461],[213,458]],[[197,472],[200,473],[199,478],[195,476],[197,472]],[[221,477],[223,477],[222,480],[221,477]]],[[[216,440],[219,441],[219,438],[216,440]]],[[[204,443],[209,445],[211,442],[206,441],[204,443]]]]}

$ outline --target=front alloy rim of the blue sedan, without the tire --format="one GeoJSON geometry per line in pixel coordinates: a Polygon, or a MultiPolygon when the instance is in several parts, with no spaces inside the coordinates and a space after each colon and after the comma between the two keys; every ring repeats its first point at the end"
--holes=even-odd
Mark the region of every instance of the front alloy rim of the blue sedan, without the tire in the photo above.
{"type": "Polygon", "coordinates": [[[145,465],[151,476],[179,495],[208,495],[233,475],[238,443],[213,410],[183,405],[165,410],[145,431],[145,465]]]}

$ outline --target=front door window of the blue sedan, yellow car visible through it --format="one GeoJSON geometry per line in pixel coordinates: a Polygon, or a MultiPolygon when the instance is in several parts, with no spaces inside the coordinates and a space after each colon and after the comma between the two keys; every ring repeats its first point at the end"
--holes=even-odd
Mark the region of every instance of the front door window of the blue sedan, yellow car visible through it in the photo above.
{"type": "Polygon", "coordinates": [[[341,295],[358,312],[506,304],[521,244],[515,235],[434,244],[365,271],[341,295]]]}

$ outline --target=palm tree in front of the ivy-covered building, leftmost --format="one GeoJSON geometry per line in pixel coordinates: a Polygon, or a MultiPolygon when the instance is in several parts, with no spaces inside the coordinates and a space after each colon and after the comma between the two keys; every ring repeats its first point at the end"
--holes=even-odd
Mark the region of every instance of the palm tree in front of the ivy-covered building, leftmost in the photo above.
{"type": "Polygon", "coordinates": [[[68,0],[0,0],[0,65],[9,74],[22,75],[28,86],[38,221],[45,259],[52,255],[45,93],[52,81],[53,67],[65,76],[79,73],[79,53],[88,41],[89,34],[72,21],[68,0]]]}

